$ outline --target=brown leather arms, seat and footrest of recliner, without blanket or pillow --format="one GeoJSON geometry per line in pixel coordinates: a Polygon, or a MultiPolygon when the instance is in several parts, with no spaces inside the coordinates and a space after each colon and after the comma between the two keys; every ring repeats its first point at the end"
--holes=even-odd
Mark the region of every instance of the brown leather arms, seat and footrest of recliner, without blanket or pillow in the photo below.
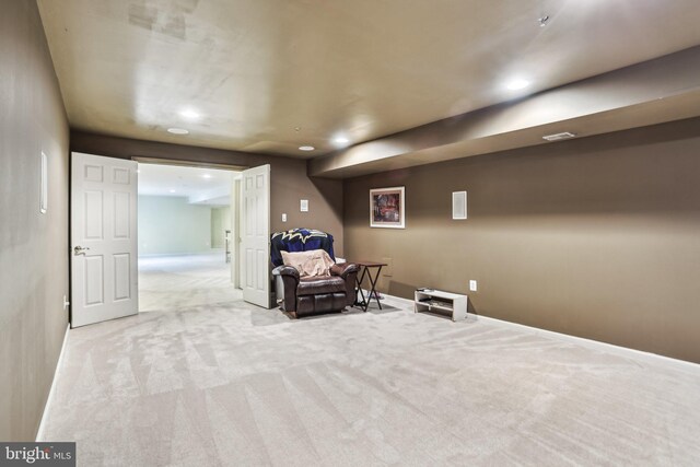
{"type": "Polygon", "coordinates": [[[334,265],[330,276],[300,278],[296,268],[279,266],[272,270],[278,303],[295,318],[340,312],[354,304],[358,270],[354,264],[334,265]]]}

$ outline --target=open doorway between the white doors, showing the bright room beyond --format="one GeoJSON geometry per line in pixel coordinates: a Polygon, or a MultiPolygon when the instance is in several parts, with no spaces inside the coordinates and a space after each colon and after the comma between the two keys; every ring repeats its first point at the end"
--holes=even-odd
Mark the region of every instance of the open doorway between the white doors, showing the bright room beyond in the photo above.
{"type": "Polygon", "coordinates": [[[234,287],[238,172],[139,164],[139,311],[174,312],[241,300],[234,287]]]}

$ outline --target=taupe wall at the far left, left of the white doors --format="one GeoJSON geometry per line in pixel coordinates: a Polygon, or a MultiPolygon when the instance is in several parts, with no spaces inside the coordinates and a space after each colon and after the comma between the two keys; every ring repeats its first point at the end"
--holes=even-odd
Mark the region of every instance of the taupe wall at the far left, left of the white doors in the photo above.
{"type": "Polygon", "coordinates": [[[2,1],[1,11],[0,440],[32,441],[68,325],[69,130],[35,2],[2,1]]]}

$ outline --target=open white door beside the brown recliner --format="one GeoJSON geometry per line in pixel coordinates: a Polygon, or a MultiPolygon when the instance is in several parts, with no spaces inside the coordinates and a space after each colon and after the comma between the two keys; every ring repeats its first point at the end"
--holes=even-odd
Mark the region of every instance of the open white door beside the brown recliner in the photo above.
{"type": "Polygon", "coordinates": [[[243,300],[270,307],[270,166],[243,171],[243,300]]]}

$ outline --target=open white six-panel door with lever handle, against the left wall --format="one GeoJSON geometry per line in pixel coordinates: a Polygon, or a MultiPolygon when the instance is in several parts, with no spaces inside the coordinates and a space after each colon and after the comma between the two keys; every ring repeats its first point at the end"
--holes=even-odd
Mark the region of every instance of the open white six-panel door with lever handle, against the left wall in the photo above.
{"type": "Polygon", "coordinates": [[[139,312],[137,163],[72,153],[71,327],[139,312]]]}

